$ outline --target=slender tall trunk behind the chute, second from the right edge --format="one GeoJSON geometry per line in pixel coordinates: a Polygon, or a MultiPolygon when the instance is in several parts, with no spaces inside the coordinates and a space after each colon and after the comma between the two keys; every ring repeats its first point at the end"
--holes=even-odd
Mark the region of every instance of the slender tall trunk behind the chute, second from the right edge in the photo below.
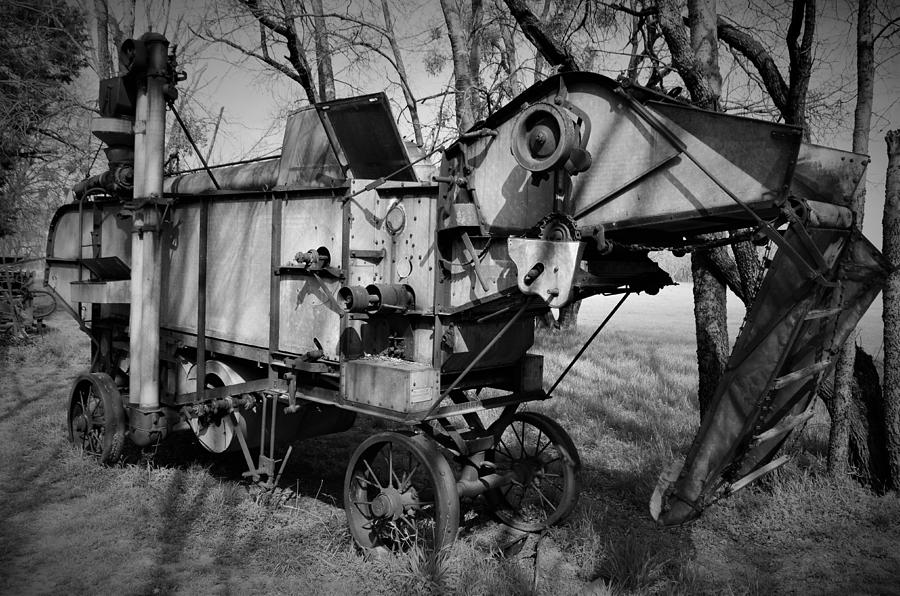
{"type": "MultiPolygon", "coordinates": [[[[871,0],[859,1],[856,25],[856,110],[853,118],[853,151],[869,152],[869,127],[872,121],[872,90],[875,81],[874,40],[872,38],[871,0]]],[[[862,229],[865,215],[865,174],[853,197],[851,208],[856,226],[862,229]]],[[[840,476],[847,471],[850,427],[848,404],[852,398],[855,338],[850,337],[838,355],[834,372],[834,400],[831,433],[828,437],[828,471],[840,476]]]]}

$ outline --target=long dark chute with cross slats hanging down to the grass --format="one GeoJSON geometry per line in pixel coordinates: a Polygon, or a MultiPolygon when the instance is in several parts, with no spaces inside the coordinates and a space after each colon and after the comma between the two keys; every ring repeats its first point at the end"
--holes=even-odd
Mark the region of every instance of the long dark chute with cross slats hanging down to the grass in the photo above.
{"type": "Polygon", "coordinates": [[[663,524],[694,519],[786,461],[773,458],[808,420],[819,385],[890,269],[855,228],[795,222],[785,240],[822,266],[776,254],[684,464],[663,474],[651,499],[663,524]]]}

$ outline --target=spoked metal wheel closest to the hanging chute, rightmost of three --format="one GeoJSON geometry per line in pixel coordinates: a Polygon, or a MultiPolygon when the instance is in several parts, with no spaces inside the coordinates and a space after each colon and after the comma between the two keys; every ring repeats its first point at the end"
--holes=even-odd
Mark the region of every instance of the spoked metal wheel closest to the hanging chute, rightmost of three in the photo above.
{"type": "Polygon", "coordinates": [[[562,520],[578,501],[578,451],[566,431],[537,412],[517,412],[488,453],[509,484],[485,496],[505,524],[537,532],[562,520]]]}

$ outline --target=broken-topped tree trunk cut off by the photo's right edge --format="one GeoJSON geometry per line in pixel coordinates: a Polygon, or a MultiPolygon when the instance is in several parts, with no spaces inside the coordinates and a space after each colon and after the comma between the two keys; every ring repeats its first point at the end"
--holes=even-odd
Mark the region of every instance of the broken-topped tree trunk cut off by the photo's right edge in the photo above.
{"type": "MultiPolygon", "coordinates": [[[[884,256],[900,266],[900,130],[885,137],[888,170],[884,201],[884,256]]],[[[900,269],[884,288],[884,420],[891,487],[900,490],[900,269]]]]}

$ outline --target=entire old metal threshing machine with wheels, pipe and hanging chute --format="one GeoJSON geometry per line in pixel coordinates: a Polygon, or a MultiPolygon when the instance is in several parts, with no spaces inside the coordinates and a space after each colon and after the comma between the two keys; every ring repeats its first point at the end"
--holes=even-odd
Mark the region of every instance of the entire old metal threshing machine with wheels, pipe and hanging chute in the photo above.
{"type": "Polygon", "coordinates": [[[525,530],[572,510],[575,445],[519,409],[548,397],[534,318],[657,292],[671,282],[648,250],[738,229],[777,246],[713,411],[654,496],[665,523],[779,463],[886,271],[847,208],[864,156],[589,73],[530,88],[438,172],[410,162],[378,94],[294,114],[276,159],[165,178],[166,47],[126,43],[93,123],[109,170],[50,230],[47,283],[92,342],[70,436],[112,462],[189,426],[271,484],[294,442],[357,413],[394,421],[347,467],[364,547],[449,544],[460,497],[525,530]]]}

